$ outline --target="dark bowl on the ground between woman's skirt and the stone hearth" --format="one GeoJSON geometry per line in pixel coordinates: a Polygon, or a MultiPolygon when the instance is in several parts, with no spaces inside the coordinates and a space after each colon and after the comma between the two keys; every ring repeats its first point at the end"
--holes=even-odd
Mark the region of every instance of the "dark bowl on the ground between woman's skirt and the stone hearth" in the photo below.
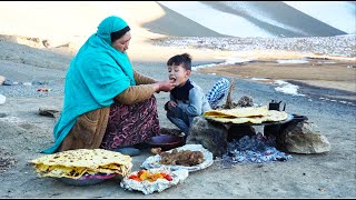
{"type": "Polygon", "coordinates": [[[185,144],[185,138],[171,134],[158,134],[146,141],[150,148],[161,148],[162,151],[167,151],[185,144]]]}

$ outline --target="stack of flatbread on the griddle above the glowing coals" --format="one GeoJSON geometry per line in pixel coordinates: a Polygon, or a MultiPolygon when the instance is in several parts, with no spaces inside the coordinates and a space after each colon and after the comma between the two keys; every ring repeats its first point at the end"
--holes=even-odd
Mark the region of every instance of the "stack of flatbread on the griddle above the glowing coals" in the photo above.
{"type": "Polygon", "coordinates": [[[204,113],[206,119],[222,123],[263,123],[283,121],[288,118],[285,111],[268,110],[265,107],[244,107],[226,110],[209,110],[204,113]]]}

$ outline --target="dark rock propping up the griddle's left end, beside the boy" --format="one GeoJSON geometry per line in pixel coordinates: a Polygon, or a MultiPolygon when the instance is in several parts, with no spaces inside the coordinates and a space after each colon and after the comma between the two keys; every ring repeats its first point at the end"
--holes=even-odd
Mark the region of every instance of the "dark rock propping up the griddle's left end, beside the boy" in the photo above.
{"type": "Polygon", "coordinates": [[[227,150],[227,136],[224,124],[208,122],[200,116],[194,119],[186,143],[200,143],[214,157],[221,157],[227,150]]]}

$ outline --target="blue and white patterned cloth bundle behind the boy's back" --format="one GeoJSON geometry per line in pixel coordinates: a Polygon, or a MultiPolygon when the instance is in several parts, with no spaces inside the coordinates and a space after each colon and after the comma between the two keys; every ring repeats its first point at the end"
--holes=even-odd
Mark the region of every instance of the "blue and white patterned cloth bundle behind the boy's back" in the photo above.
{"type": "Polygon", "coordinates": [[[229,88],[230,88],[230,81],[227,80],[226,78],[219,79],[214,84],[211,90],[206,94],[211,109],[215,109],[224,99],[224,97],[227,96],[229,88]]]}

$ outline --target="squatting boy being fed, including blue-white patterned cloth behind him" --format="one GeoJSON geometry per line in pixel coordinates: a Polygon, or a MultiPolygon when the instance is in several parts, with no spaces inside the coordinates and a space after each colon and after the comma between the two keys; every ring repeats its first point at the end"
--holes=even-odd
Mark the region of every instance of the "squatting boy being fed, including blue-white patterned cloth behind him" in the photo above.
{"type": "Polygon", "coordinates": [[[169,79],[176,81],[176,88],[170,91],[170,101],[165,104],[165,110],[169,121],[187,137],[194,118],[215,109],[227,94],[229,81],[225,78],[220,79],[206,96],[202,89],[189,79],[190,54],[182,53],[171,57],[167,61],[167,67],[169,79]]]}

